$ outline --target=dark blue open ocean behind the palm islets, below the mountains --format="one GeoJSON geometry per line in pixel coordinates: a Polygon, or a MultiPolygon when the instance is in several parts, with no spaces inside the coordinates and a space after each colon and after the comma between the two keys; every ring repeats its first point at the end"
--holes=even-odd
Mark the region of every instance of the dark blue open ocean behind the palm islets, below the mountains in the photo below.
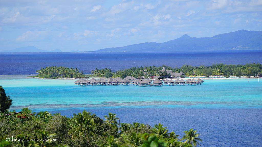
{"type": "Polygon", "coordinates": [[[262,50],[139,53],[0,53],[0,75],[36,74],[47,66],[77,67],[84,73],[109,68],[262,63],[262,50]]]}

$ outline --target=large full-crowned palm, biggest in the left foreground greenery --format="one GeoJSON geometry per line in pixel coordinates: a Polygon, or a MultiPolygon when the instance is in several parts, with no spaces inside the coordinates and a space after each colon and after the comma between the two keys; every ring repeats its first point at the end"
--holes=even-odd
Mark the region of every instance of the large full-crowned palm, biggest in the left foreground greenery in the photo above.
{"type": "Polygon", "coordinates": [[[73,127],[68,131],[68,134],[72,134],[72,138],[77,135],[84,135],[84,138],[89,142],[90,137],[96,137],[94,133],[94,119],[90,114],[91,112],[86,112],[85,110],[82,113],[73,114],[73,127]]]}

